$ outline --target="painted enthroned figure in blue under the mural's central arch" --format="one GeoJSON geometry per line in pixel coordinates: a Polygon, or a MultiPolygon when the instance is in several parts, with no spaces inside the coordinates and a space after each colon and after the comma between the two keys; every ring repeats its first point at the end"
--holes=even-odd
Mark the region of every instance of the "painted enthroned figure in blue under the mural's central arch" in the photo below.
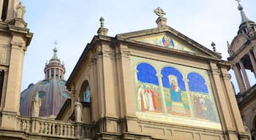
{"type": "Polygon", "coordinates": [[[172,112],[185,114],[184,104],[181,98],[181,89],[178,88],[176,77],[169,76],[170,79],[170,100],[172,101],[172,112]]]}

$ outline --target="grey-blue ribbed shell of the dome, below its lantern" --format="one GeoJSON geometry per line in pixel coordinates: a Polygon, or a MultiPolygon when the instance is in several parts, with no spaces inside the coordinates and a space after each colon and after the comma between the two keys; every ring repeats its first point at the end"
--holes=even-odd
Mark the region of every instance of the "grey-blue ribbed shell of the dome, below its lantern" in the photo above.
{"type": "Polygon", "coordinates": [[[39,93],[41,107],[39,117],[56,117],[67,98],[70,98],[65,81],[42,80],[29,85],[20,95],[20,114],[31,117],[32,101],[35,93],[39,93]]]}

